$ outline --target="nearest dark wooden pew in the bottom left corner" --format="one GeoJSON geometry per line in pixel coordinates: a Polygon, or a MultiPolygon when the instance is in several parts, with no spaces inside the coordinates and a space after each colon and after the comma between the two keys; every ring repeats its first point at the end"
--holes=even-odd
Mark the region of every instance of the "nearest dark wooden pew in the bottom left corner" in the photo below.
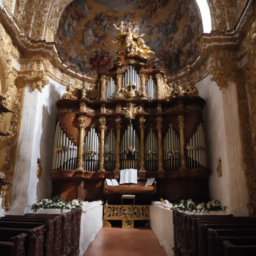
{"type": "Polygon", "coordinates": [[[10,238],[10,241],[0,241],[0,252],[2,255],[24,256],[25,255],[25,238],[27,234],[21,233],[10,238]]]}

